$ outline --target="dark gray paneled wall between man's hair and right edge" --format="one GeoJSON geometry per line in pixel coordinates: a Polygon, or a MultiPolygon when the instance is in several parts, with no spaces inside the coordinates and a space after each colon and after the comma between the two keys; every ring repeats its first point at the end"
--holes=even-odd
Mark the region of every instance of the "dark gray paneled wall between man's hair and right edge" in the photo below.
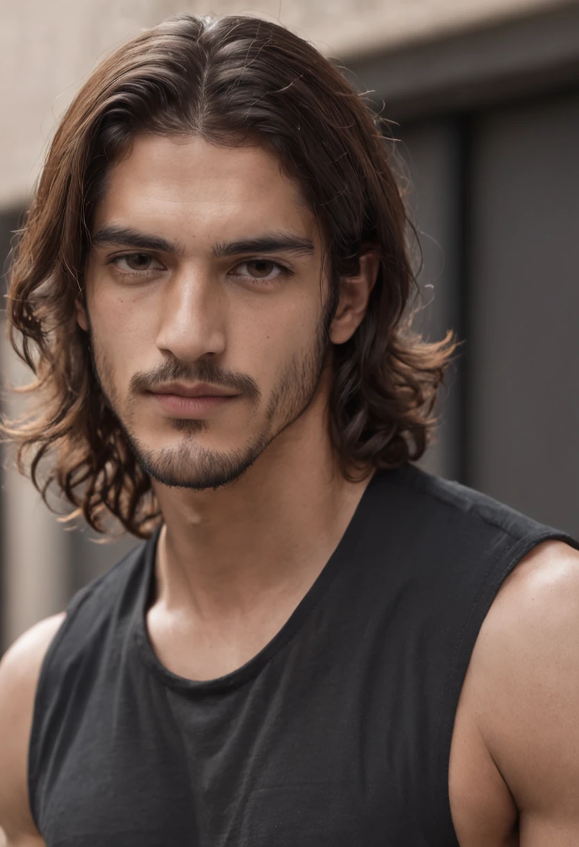
{"type": "Polygon", "coordinates": [[[427,233],[427,330],[465,340],[431,463],[579,534],[579,92],[400,136],[427,233]]]}

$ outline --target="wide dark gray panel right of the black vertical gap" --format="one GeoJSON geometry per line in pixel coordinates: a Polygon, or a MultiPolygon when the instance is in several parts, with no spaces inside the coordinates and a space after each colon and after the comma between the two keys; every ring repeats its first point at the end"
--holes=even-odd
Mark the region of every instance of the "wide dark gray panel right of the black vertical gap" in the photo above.
{"type": "Polygon", "coordinates": [[[579,94],[472,142],[471,481],[579,534],[579,94]]]}

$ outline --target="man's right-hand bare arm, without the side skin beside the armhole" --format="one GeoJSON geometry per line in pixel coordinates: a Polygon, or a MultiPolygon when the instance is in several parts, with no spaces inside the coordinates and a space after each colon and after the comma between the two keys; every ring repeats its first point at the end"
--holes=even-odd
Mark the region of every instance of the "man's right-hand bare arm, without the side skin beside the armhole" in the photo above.
{"type": "Polygon", "coordinates": [[[579,553],[546,542],[505,580],[466,696],[519,812],[521,847],[579,844],[579,553]]]}

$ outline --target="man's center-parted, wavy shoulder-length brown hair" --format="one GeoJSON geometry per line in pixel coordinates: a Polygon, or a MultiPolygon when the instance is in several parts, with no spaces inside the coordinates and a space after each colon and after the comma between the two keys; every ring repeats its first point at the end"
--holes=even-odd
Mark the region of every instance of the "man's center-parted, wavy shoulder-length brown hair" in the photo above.
{"type": "Polygon", "coordinates": [[[381,267],[356,333],[334,348],[331,436],[350,468],[420,457],[450,335],[411,334],[408,220],[388,143],[370,108],[310,44],[251,17],[179,14],[125,44],[85,82],[58,126],[9,272],[12,343],[36,374],[36,412],[3,429],[45,500],[55,483],[94,529],[112,513],[146,537],[159,512],[151,480],[110,411],[74,302],[107,169],[137,133],[257,136],[295,176],[323,227],[332,268],[355,274],[362,246],[381,267]],[[18,334],[18,340],[17,340],[18,334]],[[19,343],[18,343],[19,341],[19,343]],[[47,472],[41,479],[40,466],[47,472]]]}

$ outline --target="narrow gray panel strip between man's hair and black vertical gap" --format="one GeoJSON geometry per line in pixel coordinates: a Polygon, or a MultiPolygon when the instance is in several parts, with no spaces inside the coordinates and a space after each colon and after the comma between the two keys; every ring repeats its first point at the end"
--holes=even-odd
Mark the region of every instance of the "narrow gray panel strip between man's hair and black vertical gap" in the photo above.
{"type": "MultiPolygon", "coordinates": [[[[400,130],[400,146],[411,180],[409,196],[422,246],[418,276],[424,306],[415,326],[427,340],[459,329],[460,128],[454,119],[431,119],[400,130]]],[[[439,402],[437,440],[422,464],[455,478],[459,470],[457,374],[449,369],[448,390],[439,402]]]]}

